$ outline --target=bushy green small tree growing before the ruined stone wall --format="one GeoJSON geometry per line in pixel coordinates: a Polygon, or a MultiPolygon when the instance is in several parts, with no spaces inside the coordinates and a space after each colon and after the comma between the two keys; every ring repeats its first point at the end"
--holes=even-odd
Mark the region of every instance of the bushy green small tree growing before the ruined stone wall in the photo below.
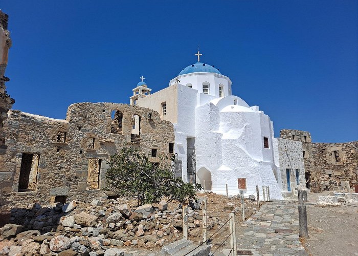
{"type": "Polygon", "coordinates": [[[105,190],[124,197],[136,196],[139,204],[158,203],[162,196],[181,203],[195,199],[194,190],[202,187],[174,178],[174,161],[174,157],[171,161],[166,157],[160,163],[151,163],[136,148],[123,147],[110,157],[105,190]]]}

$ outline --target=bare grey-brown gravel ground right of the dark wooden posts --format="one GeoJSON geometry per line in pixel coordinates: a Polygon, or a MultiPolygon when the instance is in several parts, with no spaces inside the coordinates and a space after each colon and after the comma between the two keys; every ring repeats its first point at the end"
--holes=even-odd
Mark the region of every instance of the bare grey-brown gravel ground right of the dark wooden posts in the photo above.
{"type": "Polygon", "coordinates": [[[318,196],[308,195],[308,239],[302,239],[310,255],[358,255],[358,203],[318,206],[318,196]]]}

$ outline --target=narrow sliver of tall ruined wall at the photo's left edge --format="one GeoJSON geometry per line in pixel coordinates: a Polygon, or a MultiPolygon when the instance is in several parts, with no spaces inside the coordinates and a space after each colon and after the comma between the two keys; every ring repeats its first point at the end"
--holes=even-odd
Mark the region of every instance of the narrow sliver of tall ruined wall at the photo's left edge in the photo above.
{"type": "Polygon", "coordinates": [[[15,102],[7,94],[5,86],[5,82],[9,81],[9,78],[5,77],[5,69],[8,63],[10,47],[11,39],[8,30],[8,15],[0,10],[0,155],[4,155],[7,148],[5,145],[3,122],[8,117],[7,112],[15,102]]]}

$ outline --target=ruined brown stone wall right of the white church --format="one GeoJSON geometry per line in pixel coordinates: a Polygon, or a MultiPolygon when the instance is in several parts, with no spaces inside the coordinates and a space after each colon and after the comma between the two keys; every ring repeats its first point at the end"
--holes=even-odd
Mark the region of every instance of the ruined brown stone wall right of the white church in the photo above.
{"type": "Polygon", "coordinates": [[[308,132],[281,130],[280,138],[302,142],[307,188],[314,192],[339,189],[341,180],[357,184],[358,141],[312,143],[308,132]]]}

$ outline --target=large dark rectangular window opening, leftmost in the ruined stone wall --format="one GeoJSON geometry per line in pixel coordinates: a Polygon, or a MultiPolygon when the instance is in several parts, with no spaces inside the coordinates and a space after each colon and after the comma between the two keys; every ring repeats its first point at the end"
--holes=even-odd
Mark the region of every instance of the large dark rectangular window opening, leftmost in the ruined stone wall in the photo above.
{"type": "Polygon", "coordinates": [[[23,153],[20,166],[18,190],[36,190],[39,154],[23,153]]]}

